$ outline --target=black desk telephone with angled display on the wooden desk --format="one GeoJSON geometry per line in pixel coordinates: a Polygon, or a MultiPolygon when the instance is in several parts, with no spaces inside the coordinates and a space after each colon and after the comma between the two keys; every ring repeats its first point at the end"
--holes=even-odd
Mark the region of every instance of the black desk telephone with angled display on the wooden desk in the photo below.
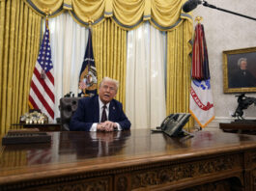
{"type": "Polygon", "coordinates": [[[160,126],[157,126],[156,129],[153,129],[152,131],[164,132],[171,137],[190,135],[183,130],[183,127],[185,123],[188,122],[190,116],[191,115],[188,113],[170,114],[163,120],[160,126]]]}

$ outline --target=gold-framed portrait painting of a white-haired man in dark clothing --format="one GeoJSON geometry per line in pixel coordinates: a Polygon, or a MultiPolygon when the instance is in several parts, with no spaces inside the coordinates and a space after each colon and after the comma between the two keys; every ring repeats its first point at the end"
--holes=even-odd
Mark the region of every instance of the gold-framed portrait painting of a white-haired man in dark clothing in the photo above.
{"type": "Polygon", "coordinates": [[[256,92],[256,47],[223,51],[224,93],[256,92]]]}

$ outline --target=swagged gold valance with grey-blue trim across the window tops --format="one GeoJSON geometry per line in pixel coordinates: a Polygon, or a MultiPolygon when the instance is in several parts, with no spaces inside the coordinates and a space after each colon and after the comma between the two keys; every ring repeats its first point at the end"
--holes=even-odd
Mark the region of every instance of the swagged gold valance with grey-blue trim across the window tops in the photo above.
{"type": "Polygon", "coordinates": [[[169,31],[183,19],[192,21],[190,14],[184,14],[185,0],[23,0],[38,14],[44,15],[46,8],[50,16],[67,10],[81,25],[90,20],[98,24],[111,17],[120,27],[131,30],[143,21],[149,20],[158,30],[169,31]]]}

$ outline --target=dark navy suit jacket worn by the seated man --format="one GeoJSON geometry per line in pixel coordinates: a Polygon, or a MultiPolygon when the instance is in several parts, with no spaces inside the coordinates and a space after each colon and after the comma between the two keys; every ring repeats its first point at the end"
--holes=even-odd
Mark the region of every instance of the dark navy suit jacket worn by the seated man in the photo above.
{"type": "MultiPolygon", "coordinates": [[[[110,101],[108,120],[119,123],[123,130],[130,127],[122,103],[115,99],[110,101]]],[[[77,110],[71,118],[70,130],[89,131],[93,123],[100,123],[99,95],[79,99],[77,110]]]]}

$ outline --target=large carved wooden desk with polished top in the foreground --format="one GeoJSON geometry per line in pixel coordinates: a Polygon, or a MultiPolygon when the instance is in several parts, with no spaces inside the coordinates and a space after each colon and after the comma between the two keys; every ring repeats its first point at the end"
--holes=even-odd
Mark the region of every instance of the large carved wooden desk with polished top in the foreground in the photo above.
{"type": "Polygon", "coordinates": [[[51,144],[1,147],[0,190],[256,190],[254,135],[50,134],[51,144]]]}

